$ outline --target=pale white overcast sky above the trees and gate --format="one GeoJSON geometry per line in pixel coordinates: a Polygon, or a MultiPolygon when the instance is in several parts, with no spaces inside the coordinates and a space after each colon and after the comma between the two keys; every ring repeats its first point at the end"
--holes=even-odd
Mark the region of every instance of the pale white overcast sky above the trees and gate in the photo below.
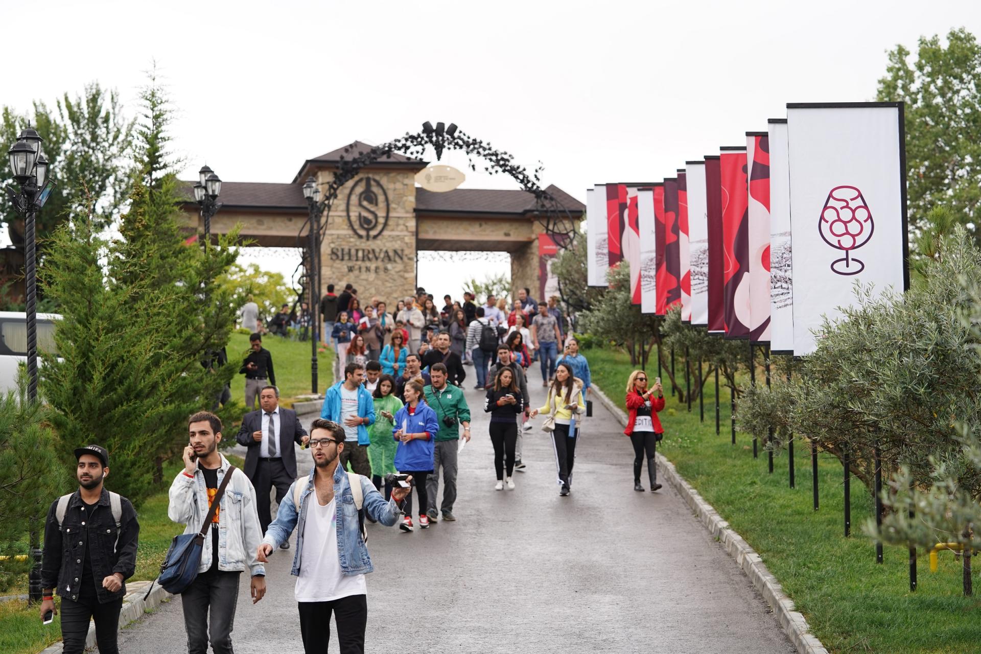
{"type": "MultiPolygon", "coordinates": [[[[672,176],[743,144],[787,102],[874,99],[897,43],[915,51],[952,26],[981,34],[971,0],[4,5],[0,104],[25,111],[98,81],[135,112],[156,60],[179,110],[184,178],[206,161],[225,180],[288,182],[305,159],[428,120],[530,169],[541,161],[544,184],[584,201],[594,183],[672,176]],[[14,33],[37,39],[20,66],[14,33]]],[[[464,187],[515,184],[468,173],[464,187]]],[[[250,258],[291,271],[282,255],[250,258]]],[[[420,282],[441,295],[440,274],[424,264],[420,282]]]]}

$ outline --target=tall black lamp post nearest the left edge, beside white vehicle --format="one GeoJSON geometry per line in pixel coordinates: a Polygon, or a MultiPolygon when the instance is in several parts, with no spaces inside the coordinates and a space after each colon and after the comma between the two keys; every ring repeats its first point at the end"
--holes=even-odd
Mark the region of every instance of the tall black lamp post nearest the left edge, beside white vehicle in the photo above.
{"type": "MultiPolygon", "coordinates": [[[[48,179],[48,161],[41,150],[42,140],[30,126],[21,131],[17,143],[7,152],[19,188],[4,188],[15,211],[24,217],[27,400],[30,402],[37,400],[37,256],[34,219],[54,188],[54,183],[48,179]]],[[[30,555],[33,566],[28,579],[29,599],[36,602],[41,599],[41,549],[36,521],[31,522],[30,555]]]]}

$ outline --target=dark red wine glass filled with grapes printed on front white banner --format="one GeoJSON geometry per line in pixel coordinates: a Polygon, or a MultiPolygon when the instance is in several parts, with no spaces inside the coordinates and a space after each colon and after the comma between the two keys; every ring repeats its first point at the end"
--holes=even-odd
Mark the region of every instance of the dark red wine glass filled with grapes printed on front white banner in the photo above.
{"type": "Polygon", "coordinates": [[[855,186],[835,186],[828,193],[817,224],[824,242],[843,250],[845,256],[831,263],[831,270],[838,275],[857,275],[865,270],[865,264],[852,258],[855,250],[872,237],[875,225],[872,212],[865,198],[855,186]]]}

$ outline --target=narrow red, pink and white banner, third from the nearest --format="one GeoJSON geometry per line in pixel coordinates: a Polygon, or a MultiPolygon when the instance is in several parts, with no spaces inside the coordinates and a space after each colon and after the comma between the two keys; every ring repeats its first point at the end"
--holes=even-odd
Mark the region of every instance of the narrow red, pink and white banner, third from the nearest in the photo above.
{"type": "Polygon", "coordinates": [[[749,340],[770,341],[770,140],[746,132],[749,164],[749,340]]]}

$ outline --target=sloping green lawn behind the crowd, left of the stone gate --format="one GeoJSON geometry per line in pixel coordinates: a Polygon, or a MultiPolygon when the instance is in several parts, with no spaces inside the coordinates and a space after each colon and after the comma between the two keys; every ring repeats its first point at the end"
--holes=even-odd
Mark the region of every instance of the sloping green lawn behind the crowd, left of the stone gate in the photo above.
{"type": "MultiPolygon", "coordinates": [[[[280,397],[285,407],[292,406],[292,398],[309,393],[310,383],[310,341],[289,340],[267,334],[263,336],[262,346],[273,355],[273,371],[276,373],[280,397]]],[[[248,334],[234,332],[227,351],[229,364],[236,369],[241,367],[242,359],[248,354],[248,334]]],[[[318,383],[321,394],[334,383],[334,351],[319,352],[317,357],[318,383]]],[[[232,399],[244,402],[245,376],[232,377],[232,399]]]]}

